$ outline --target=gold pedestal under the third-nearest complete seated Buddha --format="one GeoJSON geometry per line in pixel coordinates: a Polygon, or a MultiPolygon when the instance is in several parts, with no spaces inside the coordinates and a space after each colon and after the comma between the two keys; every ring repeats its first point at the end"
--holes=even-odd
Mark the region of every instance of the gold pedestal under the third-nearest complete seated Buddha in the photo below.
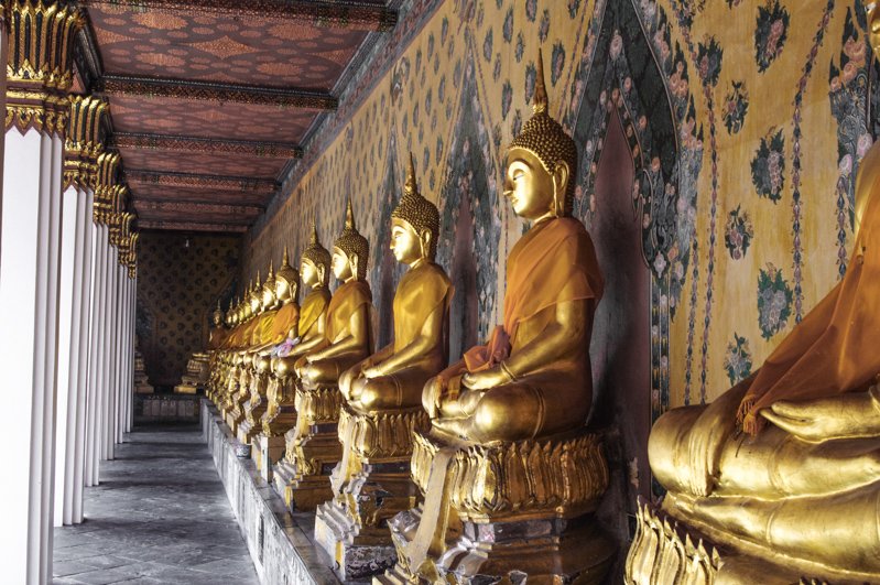
{"type": "Polygon", "coordinates": [[[296,426],[285,435],[286,453],[272,472],[275,490],[291,511],[314,510],[333,497],[330,473],[343,458],[336,384],[296,389],[296,426]]]}

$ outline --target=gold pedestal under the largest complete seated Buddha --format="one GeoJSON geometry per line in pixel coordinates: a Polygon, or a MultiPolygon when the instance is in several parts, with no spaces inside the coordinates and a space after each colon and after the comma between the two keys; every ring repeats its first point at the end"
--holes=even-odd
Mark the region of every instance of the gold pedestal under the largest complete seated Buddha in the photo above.
{"type": "Polygon", "coordinates": [[[585,429],[491,446],[414,433],[424,503],[390,522],[398,563],[378,584],[599,584],[616,548],[594,512],[608,487],[585,429]]]}

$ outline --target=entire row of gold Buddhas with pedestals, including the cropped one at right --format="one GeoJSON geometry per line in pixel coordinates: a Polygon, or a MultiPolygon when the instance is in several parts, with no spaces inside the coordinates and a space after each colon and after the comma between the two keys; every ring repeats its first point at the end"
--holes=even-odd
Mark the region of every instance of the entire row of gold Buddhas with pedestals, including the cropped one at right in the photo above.
{"type": "MultiPolygon", "coordinates": [[[[874,17],[871,6],[877,46],[874,17]]],[[[618,545],[596,520],[609,467],[587,424],[604,279],[572,217],[577,150],[547,112],[537,65],[534,113],[503,175],[529,229],[485,345],[448,365],[455,291],[435,263],[439,214],[412,158],[390,218],[408,267],[393,315],[374,314],[350,202],[330,250],[313,224],[298,271],[285,250],[215,315],[209,398],[291,509],[315,510],[315,541],[343,578],[619,582],[608,575],[618,545]],[[393,319],[378,350],[377,317],[393,319]]],[[[626,583],[880,583],[878,181],[874,147],[843,281],[751,377],[656,421],[648,453],[665,496],[639,506],[626,583]]]]}

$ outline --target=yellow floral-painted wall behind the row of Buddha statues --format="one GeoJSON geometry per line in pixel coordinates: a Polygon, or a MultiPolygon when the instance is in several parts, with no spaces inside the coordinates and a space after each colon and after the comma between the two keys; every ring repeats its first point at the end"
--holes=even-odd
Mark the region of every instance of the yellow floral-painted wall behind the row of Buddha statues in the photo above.
{"type": "MultiPolygon", "coordinates": [[[[278,262],[284,245],[298,256],[315,216],[329,247],[351,197],[388,315],[401,272],[385,250],[388,218],[412,150],[443,218],[454,354],[485,337],[500,321],[504,258],[523,231],[501,201],[502,149],[530,116],[541,46],[551,111],[580,149],[576,213],[594,235],[613,234],[600,228],[604,210],[620,213],[596,196],[615,108],[632,153],[650,284],[631,296],[650,303],[640,307],[644,408],[656,416],[710,401],[757,368],[845,269],[852,181],[871,141],[861,11],[858,0],[404,2],[408,25],[380,41],[246,237],[243,275],[278,262]]],[[[616,259],[632,261],[631,250],[597,246],[609,250],[608,273],[616,259]]],[[[613,343],[594,342],[594,361],[615,362],[602,354],[613,343]]]]}

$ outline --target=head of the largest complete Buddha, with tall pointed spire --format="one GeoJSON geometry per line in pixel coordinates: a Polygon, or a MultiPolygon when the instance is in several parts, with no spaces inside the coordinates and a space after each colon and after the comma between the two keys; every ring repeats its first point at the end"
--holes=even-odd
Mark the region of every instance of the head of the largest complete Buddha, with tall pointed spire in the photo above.
{"type": "Polygon", "coordinates": [[[577,148],[559,122],[547,113],[544,64],[537,52],[534,115],[507,152],[504,196],[525,219],[572,215],[577,174],[577,148]]]}

